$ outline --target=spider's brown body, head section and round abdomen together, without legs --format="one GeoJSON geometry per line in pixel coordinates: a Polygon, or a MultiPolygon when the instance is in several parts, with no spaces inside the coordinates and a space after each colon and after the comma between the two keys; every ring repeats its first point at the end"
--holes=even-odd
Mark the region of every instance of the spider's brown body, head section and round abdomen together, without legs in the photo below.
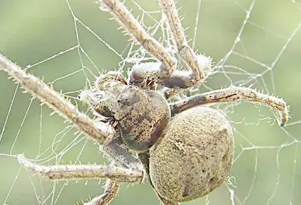
{"type": "Polygon", "coordinates": [[[127,85],[117,76],[121,74],[110,71],[98,77],[98,90],[92,88],[85,99],[99,114],[112,114],[126,147],[137,152],[150,149],[149,161],[142,162],[159,196],[170,202],[189,201],[220,186],[234,155],[232,128],[223,114],[195,107],[171,119],[163,95],[127,85]],[[93,101],[98,95],[107,97],[93,101]]]}

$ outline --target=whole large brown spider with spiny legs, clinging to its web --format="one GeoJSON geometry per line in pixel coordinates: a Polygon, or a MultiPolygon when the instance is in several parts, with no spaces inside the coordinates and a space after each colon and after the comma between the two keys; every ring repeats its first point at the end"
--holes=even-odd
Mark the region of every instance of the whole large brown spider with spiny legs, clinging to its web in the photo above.
{"type": "Polygon", "coordinates": [[[80,98],[93,108],[96,121],[80,113],[41,80],[0,56],[0,69],[76,124],[111,159],[108,167],[46,167],[19,155],[21,165],[50,180],[107,178],[104,194],[87,204],[109,204],[118,193],[118,182],[141,182],[144,176],[163,204],[194,200],[220,186],[232,168],[233,133],[223,114],[204,104],[243,100],[277,110],[280,125],[289,118],[285,101],[243,87],[223,88],[168,103],[172,95],[203,83],[212,62],[188,45],[175,3],[158,2],[168,20],[177,55],[191,71],[176,70],[175,57],[148,36],[120,1],[102,0],[103,6],[158,62],[133,66],[127,80],[122,73],[109,71],[98,77],[95,86],[82,91],[80,98]]]}

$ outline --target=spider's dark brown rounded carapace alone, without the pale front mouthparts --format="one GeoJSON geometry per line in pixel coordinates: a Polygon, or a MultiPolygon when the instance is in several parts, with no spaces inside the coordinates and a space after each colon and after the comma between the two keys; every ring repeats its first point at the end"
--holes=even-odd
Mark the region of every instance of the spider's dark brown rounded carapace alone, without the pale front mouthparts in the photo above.
{"type": "Polygon", "coordinates": [[[164,97],[137,86],[127,86],[114,108],[122,141],[137,152],[150,149],[170,119],[170,109],[164,97]]]}

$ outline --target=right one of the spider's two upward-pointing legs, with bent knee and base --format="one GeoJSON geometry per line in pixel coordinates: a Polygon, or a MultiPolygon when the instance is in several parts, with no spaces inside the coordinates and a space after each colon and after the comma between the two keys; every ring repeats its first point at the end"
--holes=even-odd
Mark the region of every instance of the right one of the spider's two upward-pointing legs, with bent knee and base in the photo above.
{"type": "MultiPolygon", "coordinates": [[[[144,63],[133,67],[129,81],[132,84],[140,84],[147,78],[147,81],[157,81],[168,88],[198,86],[208,77],[208,73],[212,68],[212,59],[203,55],[198,56],[188,45],[175,2],[173,0],[159,0],[159,4],[168,19],[168,25],[179,56],[190,67],[191,71],[177,70],[172,75],[160,76],[159,73],[164,70],[162,68],[164,64],[144,63]],[[154,77],[154,75],[157,75],[157,77],[154,77]]],[[[173,93],[173,91],[168,91],[168,93],[173,93]]]]}

